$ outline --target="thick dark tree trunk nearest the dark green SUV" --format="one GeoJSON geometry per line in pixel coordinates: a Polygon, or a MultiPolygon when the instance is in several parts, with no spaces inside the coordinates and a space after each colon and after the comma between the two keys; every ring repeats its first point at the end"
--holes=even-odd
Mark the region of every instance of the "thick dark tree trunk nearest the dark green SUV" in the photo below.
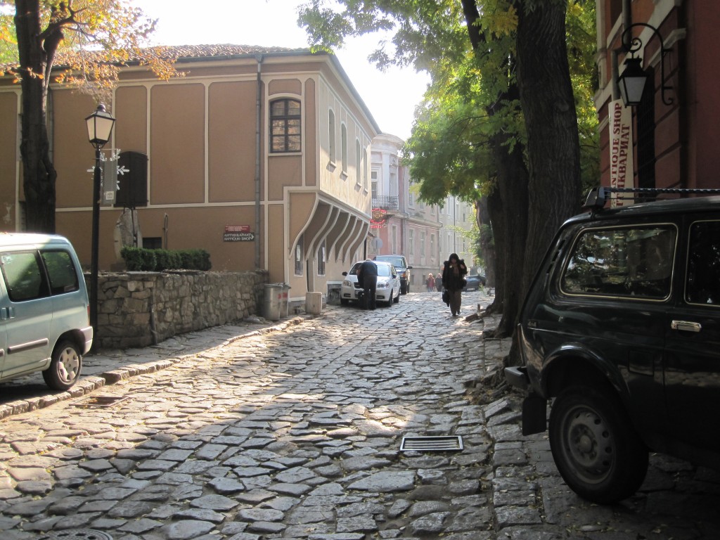
{"type": "Polygon", "coordinates": [[[528,133],[528,242],[521,298],[562,222],[580,203],[580,141],[565,45],[566,4],[518,9],[518,87],[528,133]]]}

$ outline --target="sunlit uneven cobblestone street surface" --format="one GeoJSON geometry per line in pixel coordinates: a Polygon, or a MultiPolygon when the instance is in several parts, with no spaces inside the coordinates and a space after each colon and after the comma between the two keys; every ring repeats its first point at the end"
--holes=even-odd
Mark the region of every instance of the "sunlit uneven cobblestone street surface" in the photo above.
{"type": "Polygon", "coordinates": [[[485,325],[409,294],[89,357],[86,379],[114,384],[64,399],[2,385],[2,540],[720,537],[720,477],[685,462],[653,456],[620,505],[567,490],[546,437],[521,436],[520,397],[483,387],[510,345],[485,325]],[[462,450],[400,451],[449,435],[462,450]]]}

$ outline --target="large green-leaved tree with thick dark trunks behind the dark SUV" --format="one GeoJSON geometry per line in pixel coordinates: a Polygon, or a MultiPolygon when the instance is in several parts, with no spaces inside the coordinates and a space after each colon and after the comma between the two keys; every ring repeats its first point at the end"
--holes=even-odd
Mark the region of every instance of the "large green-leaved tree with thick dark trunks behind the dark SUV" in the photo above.
{"type": "Polygon", "coordinates": [[[597,181],[594,3],[311,0],[299,22],[330,50],[384,30],[371,60],[431,74],[404,150],[410,176],[426,202],[487,199],[480,225],[492,222],[508,314],[499,333],[512,331],[533,265],[578,207],[581,149],[586,181],[597,181]]]}

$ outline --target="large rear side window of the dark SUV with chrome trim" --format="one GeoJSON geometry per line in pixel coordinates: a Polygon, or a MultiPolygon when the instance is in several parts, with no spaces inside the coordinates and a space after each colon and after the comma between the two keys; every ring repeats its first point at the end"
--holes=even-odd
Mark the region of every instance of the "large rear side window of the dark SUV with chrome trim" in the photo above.
{"type": "Polygon", "coordinates": [[[670,224],[584,230],[560,288],[566,294],[665,300],[677,235],[670,224]]]}

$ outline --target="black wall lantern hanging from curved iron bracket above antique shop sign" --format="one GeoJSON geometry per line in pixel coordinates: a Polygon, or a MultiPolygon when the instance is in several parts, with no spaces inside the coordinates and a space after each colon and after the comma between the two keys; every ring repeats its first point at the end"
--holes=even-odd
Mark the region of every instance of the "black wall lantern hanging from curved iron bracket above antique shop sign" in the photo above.
{"type": "Polygon", "coordinates": [[[672,86],[665,84],[665,55],[670,53],[670,49],[665,48],[662,42],[662,36],[657,28],[645,22],[636,22],[627,27],[622,36],[623,48],[629,53],[630,58],[625,60],[625,69],[618,76],[618,86],[620,87],[620,95],[626,107],[635,107],[642,101],[642,93],[647,82],[647,72],[642,68],[642,58],[636,58],[635,53],[643,48],[642,40],[632,35],[632,29],[635,27],[644,27],[652,31],[650,37],[657,37],[660,40],[660,95],[662,102],[666,105],[672,104],[672,96],[665,96],[665,91],[672,89],[672,86]]]}

